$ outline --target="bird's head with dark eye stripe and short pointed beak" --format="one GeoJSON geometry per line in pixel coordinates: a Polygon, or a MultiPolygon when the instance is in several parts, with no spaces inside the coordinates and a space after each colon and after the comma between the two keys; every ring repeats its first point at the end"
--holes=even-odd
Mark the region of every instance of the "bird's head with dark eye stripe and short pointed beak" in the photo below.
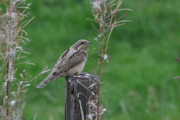
{"type": "Polygon", "coordinates": [[[81,39],[78,40],[73,46],[72,48],[74,48],[75,50],[82,50],[82,51],[88,51],[88,47],[89,44],[92,42],[89,42],[87,40],[81,39]]]}

